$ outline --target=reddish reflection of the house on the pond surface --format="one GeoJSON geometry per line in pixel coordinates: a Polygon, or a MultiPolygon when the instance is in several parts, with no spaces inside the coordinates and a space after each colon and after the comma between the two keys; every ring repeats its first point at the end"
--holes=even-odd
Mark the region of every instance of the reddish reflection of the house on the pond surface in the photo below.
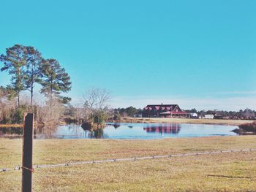
{"type": "Polygon", "coordinates": [[[148,133],[161,133],[163,134],[178,134],[181,126],[178,123],[166,123],[166,124],[149,124],[143,128],[148,133]]]}

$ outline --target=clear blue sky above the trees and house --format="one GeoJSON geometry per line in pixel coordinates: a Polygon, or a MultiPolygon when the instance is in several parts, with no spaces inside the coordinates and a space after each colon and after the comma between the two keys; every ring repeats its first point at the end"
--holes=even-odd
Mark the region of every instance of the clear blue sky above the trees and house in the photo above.
{"type": "Polygon", "coordinates": [[[23,44],[59,60],[73,102],[94,86],[113,107],[256,110],[255,10],[254,0],[2,0],[0,53],[23,44]]]}

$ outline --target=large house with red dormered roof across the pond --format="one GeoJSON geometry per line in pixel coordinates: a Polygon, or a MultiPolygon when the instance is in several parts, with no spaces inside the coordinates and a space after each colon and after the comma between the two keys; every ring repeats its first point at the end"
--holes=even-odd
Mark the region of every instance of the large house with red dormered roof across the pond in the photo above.
{"type": "Polygon", "coordinates": [[[189,118],[178,104],[148,104],[143,108],[143,118],[189,118]]]}

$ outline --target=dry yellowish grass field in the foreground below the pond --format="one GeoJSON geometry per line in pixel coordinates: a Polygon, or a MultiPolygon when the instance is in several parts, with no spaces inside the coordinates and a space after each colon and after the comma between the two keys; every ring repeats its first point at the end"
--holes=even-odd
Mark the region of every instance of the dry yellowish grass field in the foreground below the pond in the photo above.
{"type": "MultiPolygon", "coordinates": [[[[160,140],[34,140],[34,164],[58,164],[256,147],[256,136],[160,140]]],[[[0,168],[21,164],[21,139],[0,139],[0,168]]],[[[36,169],[34,191],[253,191],[256,152],[36,169]]],[[[1,172],[0,191],[20,191],[21,172],[1,172]]]]}

